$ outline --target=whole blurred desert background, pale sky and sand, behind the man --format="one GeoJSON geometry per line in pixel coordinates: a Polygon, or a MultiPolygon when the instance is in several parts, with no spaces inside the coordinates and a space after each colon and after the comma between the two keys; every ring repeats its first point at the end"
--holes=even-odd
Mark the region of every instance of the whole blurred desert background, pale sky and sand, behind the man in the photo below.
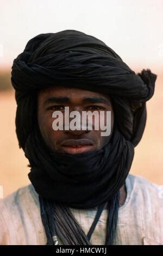
{"type": "Polygon", "coordinates": [[[16,102],[10,72],[27,41],[40,33],[76,29],[103,40],[135,72],[158,75],[147,102],[147,124],[135,148],[131,174],[163,185],[163,15],[161,1],[1,1],[0,10],[0,185],[3,196],[29,184],[28,161],[18,148],[16,102]],[[123,4],[122,4],[123,2],[123,4]],[[93,4],[93,5],[92,5],[93,4]],[[68,11],[67,11],[68,10],[68,11]],[[5,28],[5,29],[4,29],[5,28]]]}

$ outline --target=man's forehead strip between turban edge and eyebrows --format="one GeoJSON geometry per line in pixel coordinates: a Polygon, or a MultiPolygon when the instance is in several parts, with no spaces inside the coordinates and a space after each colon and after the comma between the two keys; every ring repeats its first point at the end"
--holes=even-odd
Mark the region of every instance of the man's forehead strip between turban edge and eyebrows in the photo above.
{"type": "Polygon", "coordinates": [[[77,98],[78,100],[82,100],[84,97],[87,96],[96,96],[96,97],[103,97],[110,101],[109,95],[104,95],[102,93],[92,92],[90,90],[84,90],[79,88],[72,88],[72,87],[50,87],[43,89],[39,92],[38,98],[39,100],[46,100],[48,97],[52,96],[66,96],[69,97],[70,100],[77,98]]]}

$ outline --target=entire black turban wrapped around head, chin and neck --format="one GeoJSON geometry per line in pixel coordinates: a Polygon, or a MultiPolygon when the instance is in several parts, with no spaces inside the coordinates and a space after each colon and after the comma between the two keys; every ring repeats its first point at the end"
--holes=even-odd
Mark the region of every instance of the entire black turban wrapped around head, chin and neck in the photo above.
{"type": "Polygon", "coordinates": [[[111,199],[128,175],[155,80],[149,69],[136,75],[104,42],[82,32],[67,30],[31,39],[14,60],[11,81],[16,90],[16,133],[32,167],[29,178],[35,190],[76,208],[111,199]],[[116,125],[104,149],[64,159],[48,152],[36,128],[36,96],[40,89],[55,85],[111,96],[116,125]]]}

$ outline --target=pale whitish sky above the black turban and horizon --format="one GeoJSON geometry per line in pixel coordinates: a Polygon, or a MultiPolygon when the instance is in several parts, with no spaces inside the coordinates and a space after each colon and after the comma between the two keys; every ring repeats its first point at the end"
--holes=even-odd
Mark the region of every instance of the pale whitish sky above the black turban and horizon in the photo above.
{"type": "Polygon", "coordinates": [[[0,0],[0,69],[37,34],[76,29],[116,51],[130,68],[163,70],[161,0],[0,0]]]}

